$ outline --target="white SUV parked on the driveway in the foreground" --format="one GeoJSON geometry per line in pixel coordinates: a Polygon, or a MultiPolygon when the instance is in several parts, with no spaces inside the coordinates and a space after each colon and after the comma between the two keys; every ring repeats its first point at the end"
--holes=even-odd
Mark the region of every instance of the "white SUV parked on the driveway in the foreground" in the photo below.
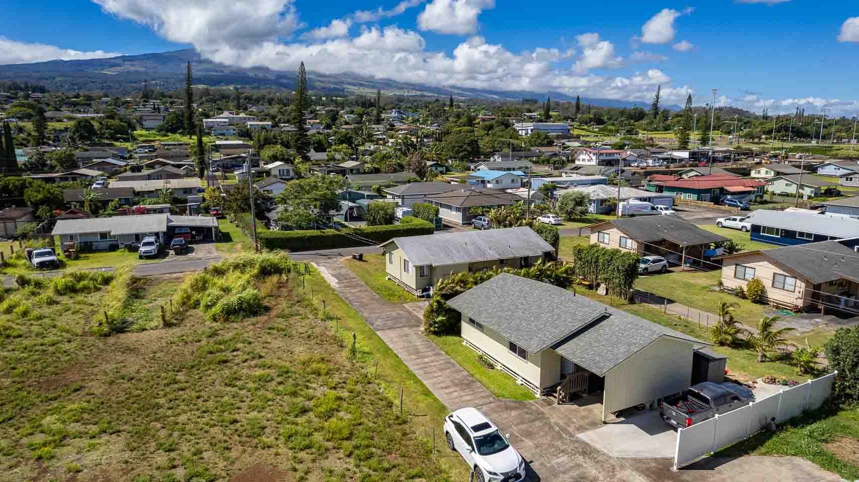
{"type": "Polygon", "coordinates": [[[478,482],[525,479],[525,459],[477,408],[460,408],[445,417],[444,438],[472,467],[478,482]]]}

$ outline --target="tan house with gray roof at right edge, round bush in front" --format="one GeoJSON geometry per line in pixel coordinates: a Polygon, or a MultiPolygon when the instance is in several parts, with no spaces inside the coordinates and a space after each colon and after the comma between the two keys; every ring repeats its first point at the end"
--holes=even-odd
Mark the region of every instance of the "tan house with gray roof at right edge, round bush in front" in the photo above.
{"type": "Polygon", "coordinates": [[[792,310],[854,307],[859,304],[857,246],[859,238],[848,238],[721,256],[722,286],[745,289],[758,278],[771,303],[792,310]]]}

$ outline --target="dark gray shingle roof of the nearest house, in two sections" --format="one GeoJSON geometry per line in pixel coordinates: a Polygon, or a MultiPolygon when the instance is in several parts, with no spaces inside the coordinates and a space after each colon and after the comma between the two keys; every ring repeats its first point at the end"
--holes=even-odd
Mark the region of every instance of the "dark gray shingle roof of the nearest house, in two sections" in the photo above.
{"type": "Polygon", "coordinates": [[[499,274],[448,304],[528,352],[551,347],[600,376],[661,336],[706,345],[564,288],[515,274],[499,274]]]}

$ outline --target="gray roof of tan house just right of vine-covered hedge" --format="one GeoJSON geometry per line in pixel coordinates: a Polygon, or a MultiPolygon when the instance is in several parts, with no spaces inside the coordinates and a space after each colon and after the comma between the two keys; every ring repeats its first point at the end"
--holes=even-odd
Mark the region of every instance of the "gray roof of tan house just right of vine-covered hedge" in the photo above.
{"type": "MultiPolygon", "coordinates": [[[[681,220],[675,215],[665,216],[643,216],[637,218],[624,218],[610,220],[621,231],[628,233],[637,241],[655,241],[667,239],[681,246],[692,246],[696,244],[719,243],[728,241],[728,238],[715,232],[704,231],[690,222],[681,220]]],[[[603,223],[605,224],[605,223],[603,223]]],[[[592,232],[593,232],[592,227],[592,232]]],[[[597,228],[599,229],[599,228],[597,228]]]]}

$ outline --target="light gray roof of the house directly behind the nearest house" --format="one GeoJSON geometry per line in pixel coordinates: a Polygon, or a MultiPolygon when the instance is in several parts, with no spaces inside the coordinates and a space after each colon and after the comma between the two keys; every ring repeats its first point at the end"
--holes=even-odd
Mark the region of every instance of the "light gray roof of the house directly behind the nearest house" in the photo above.
{"type": "Polygon", "coordinates": [[[527,226],[393,238],[382,245],[390,243],[415,266],[542,256],[555,250],[527,226]]]}

